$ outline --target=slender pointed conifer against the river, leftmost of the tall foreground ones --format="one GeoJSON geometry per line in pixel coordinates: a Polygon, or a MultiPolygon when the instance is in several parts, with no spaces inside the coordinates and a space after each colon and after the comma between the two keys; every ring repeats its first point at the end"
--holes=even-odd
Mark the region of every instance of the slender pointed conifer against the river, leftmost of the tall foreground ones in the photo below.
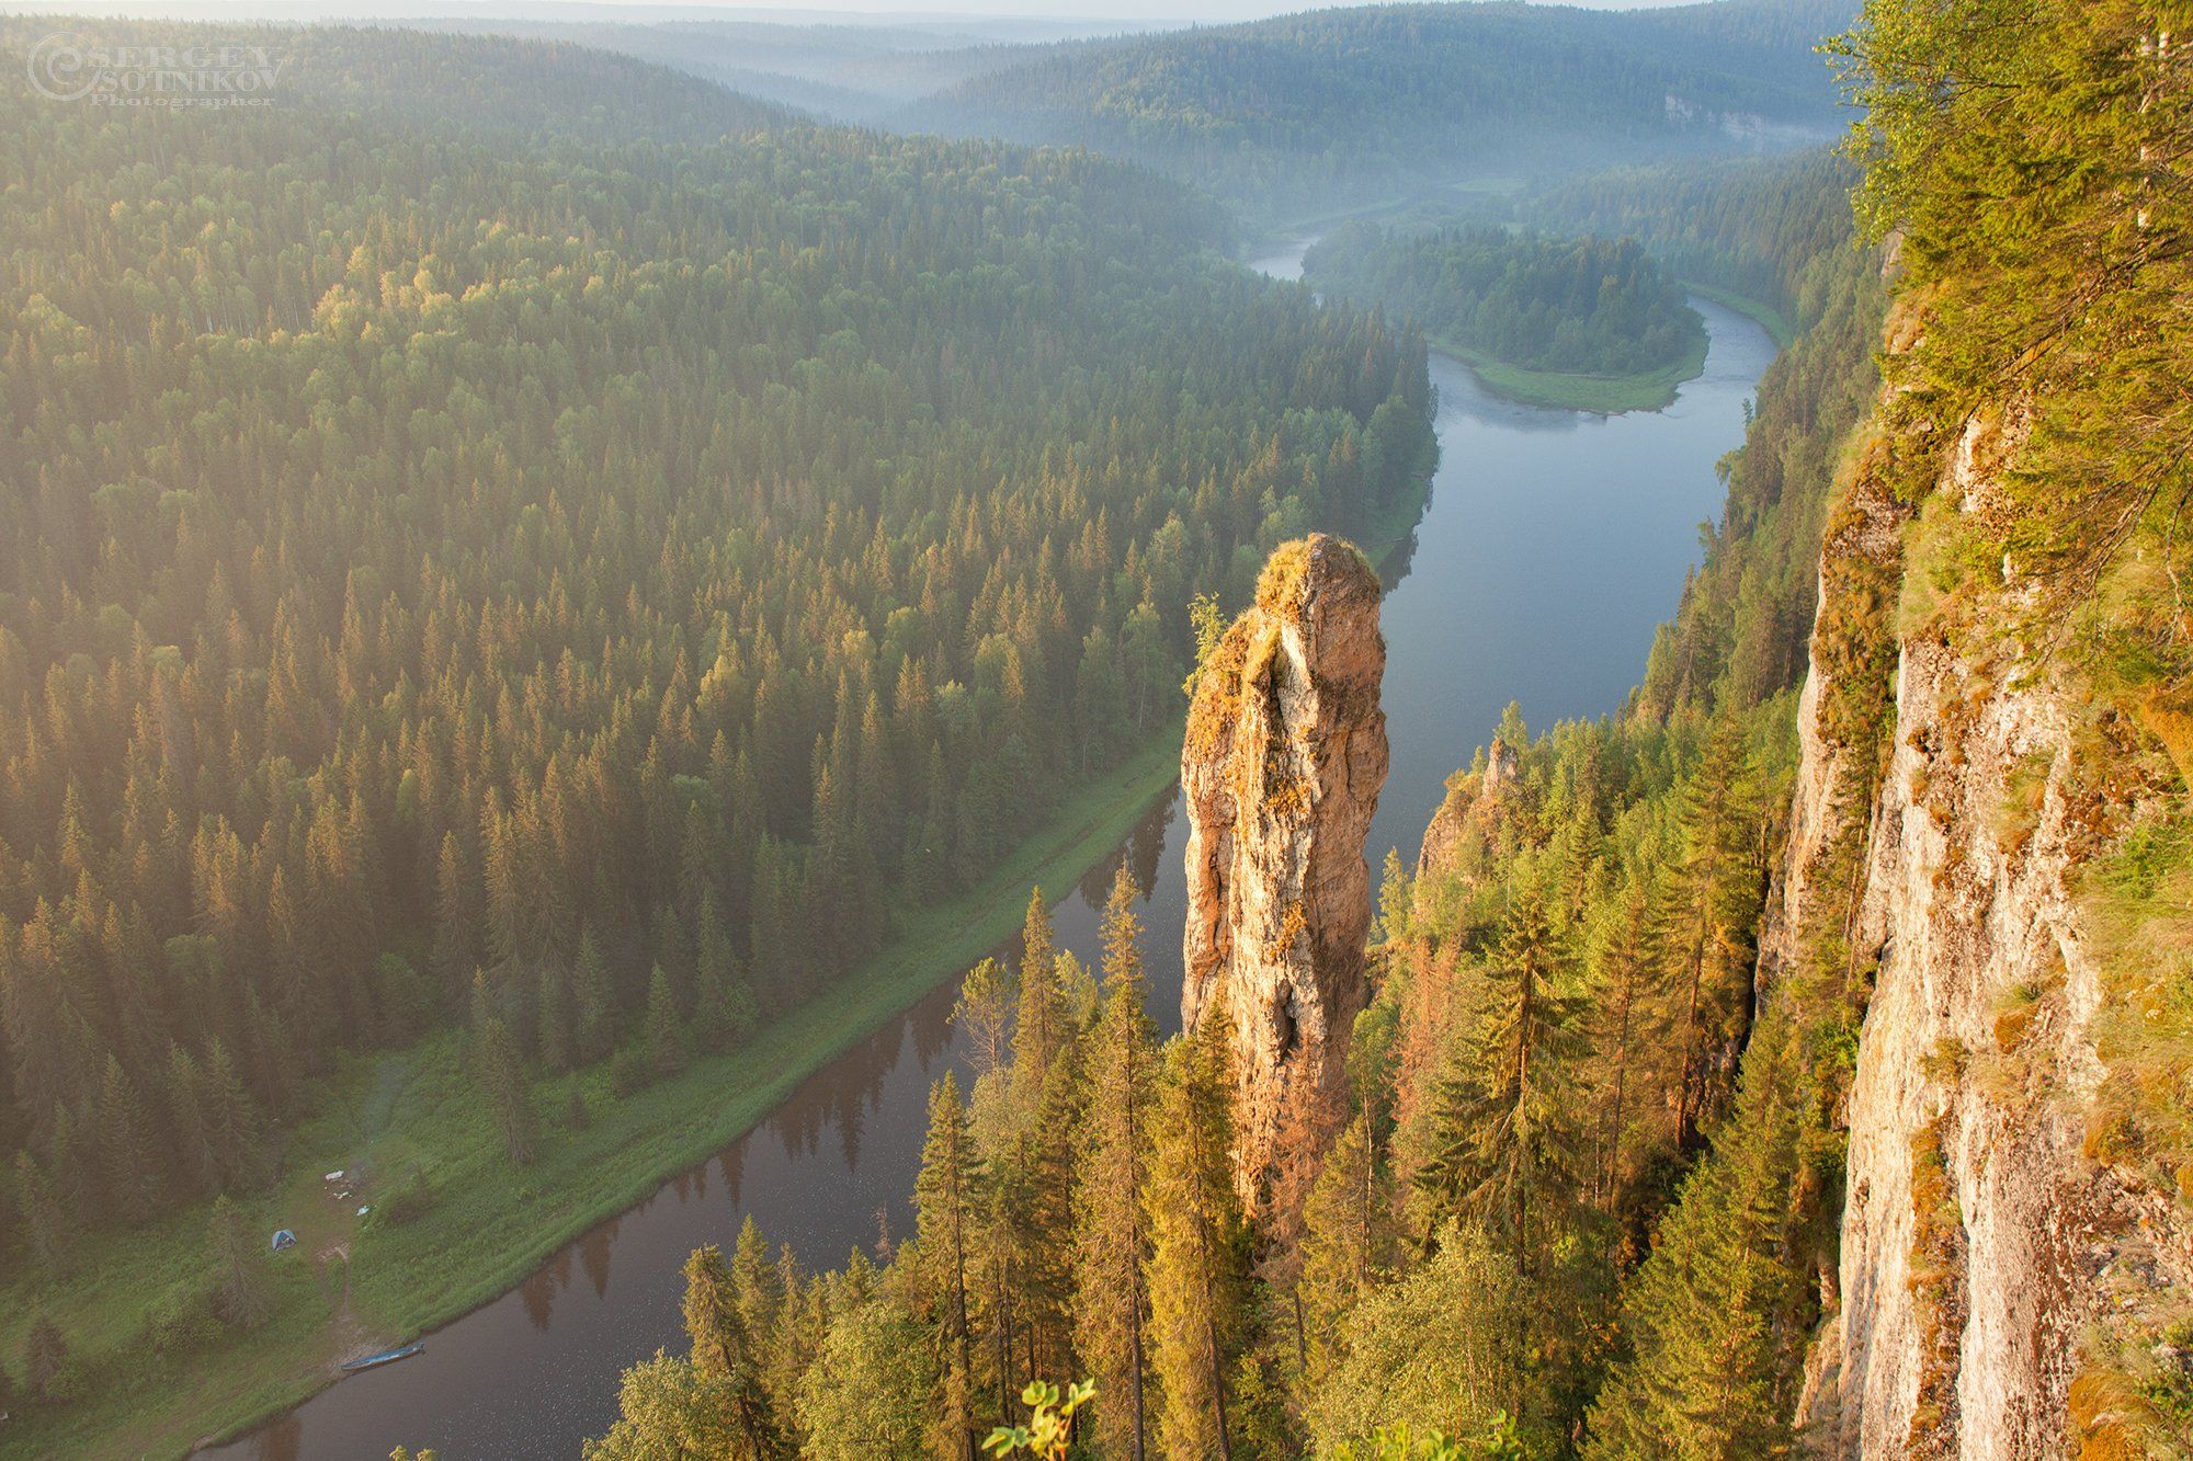
{"type": "Polygon", "coordinates": [[[980,1167],[958,1077],[930,1088],[930,1134],[914,1178],[914,1224],[921,1237],[921,1286],[936,1312],[939,1351],[945,1356],[943,1393],[932,1415],[936,1452],[976,1457],[974,1349],[967,1270],[980,1242],[980,1167]]]}

